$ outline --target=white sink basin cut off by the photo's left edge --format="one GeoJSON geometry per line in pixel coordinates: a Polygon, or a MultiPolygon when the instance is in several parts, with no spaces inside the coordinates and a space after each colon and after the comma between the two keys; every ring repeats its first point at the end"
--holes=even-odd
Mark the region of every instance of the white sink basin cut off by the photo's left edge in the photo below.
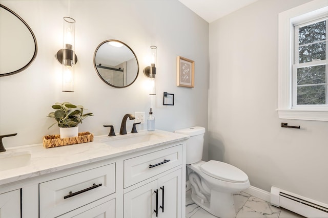
{"type": "Polygon", "coordinates": [[[0,153],[0,171],[27,166],[30,161],[31,154],[28,151],[7,150],[0,153]]]}

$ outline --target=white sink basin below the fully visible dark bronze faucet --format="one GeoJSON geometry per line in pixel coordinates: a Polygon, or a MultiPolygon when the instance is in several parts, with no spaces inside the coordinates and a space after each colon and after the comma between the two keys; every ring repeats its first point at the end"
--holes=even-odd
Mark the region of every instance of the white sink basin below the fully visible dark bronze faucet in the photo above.
{"type": "Polygon", "coordinates": [[[155,134],[152,132],[146,132],[146,133],[133,133],[133,134],[127,134],[127,135],[118,135],[118,136],[112,136],[110,138],[101,140],[101,142],[108,144],[112,147],[122,147],[122,146],[128,146],[128,145],[134,145],[139,143],[156,143],[158,140],[165,139],[166,136],[155,134]]]}

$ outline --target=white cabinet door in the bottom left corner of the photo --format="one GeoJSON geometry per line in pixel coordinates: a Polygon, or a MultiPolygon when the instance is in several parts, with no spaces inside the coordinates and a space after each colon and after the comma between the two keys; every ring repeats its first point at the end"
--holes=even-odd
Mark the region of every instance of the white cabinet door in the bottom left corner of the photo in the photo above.
{"type": "Polygon", "coordinates": [[[0,217],[20,217],[20,189],[0,194],[0,217]]]}

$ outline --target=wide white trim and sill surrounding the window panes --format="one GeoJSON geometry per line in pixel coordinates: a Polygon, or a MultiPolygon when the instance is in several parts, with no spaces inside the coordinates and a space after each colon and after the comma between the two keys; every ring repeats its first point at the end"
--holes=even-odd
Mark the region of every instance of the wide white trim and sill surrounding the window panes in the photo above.
{"type": "Polygon", "coordinates": [[[328,121],[328,108],[326,106],[292,106],[294,24],[327,15],[328,0],[315,0],[279,13],[277,111],[280,119],[328,121]]]}

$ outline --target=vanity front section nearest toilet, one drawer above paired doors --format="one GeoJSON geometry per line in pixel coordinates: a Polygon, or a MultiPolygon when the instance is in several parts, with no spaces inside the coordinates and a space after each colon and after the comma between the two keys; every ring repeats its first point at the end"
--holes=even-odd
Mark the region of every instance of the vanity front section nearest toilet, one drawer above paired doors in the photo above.
{"type": "Polygon", "coordinates": [[[124,175],[124,218],[181,217],[182,145],[125,160],[124,175]]]}

